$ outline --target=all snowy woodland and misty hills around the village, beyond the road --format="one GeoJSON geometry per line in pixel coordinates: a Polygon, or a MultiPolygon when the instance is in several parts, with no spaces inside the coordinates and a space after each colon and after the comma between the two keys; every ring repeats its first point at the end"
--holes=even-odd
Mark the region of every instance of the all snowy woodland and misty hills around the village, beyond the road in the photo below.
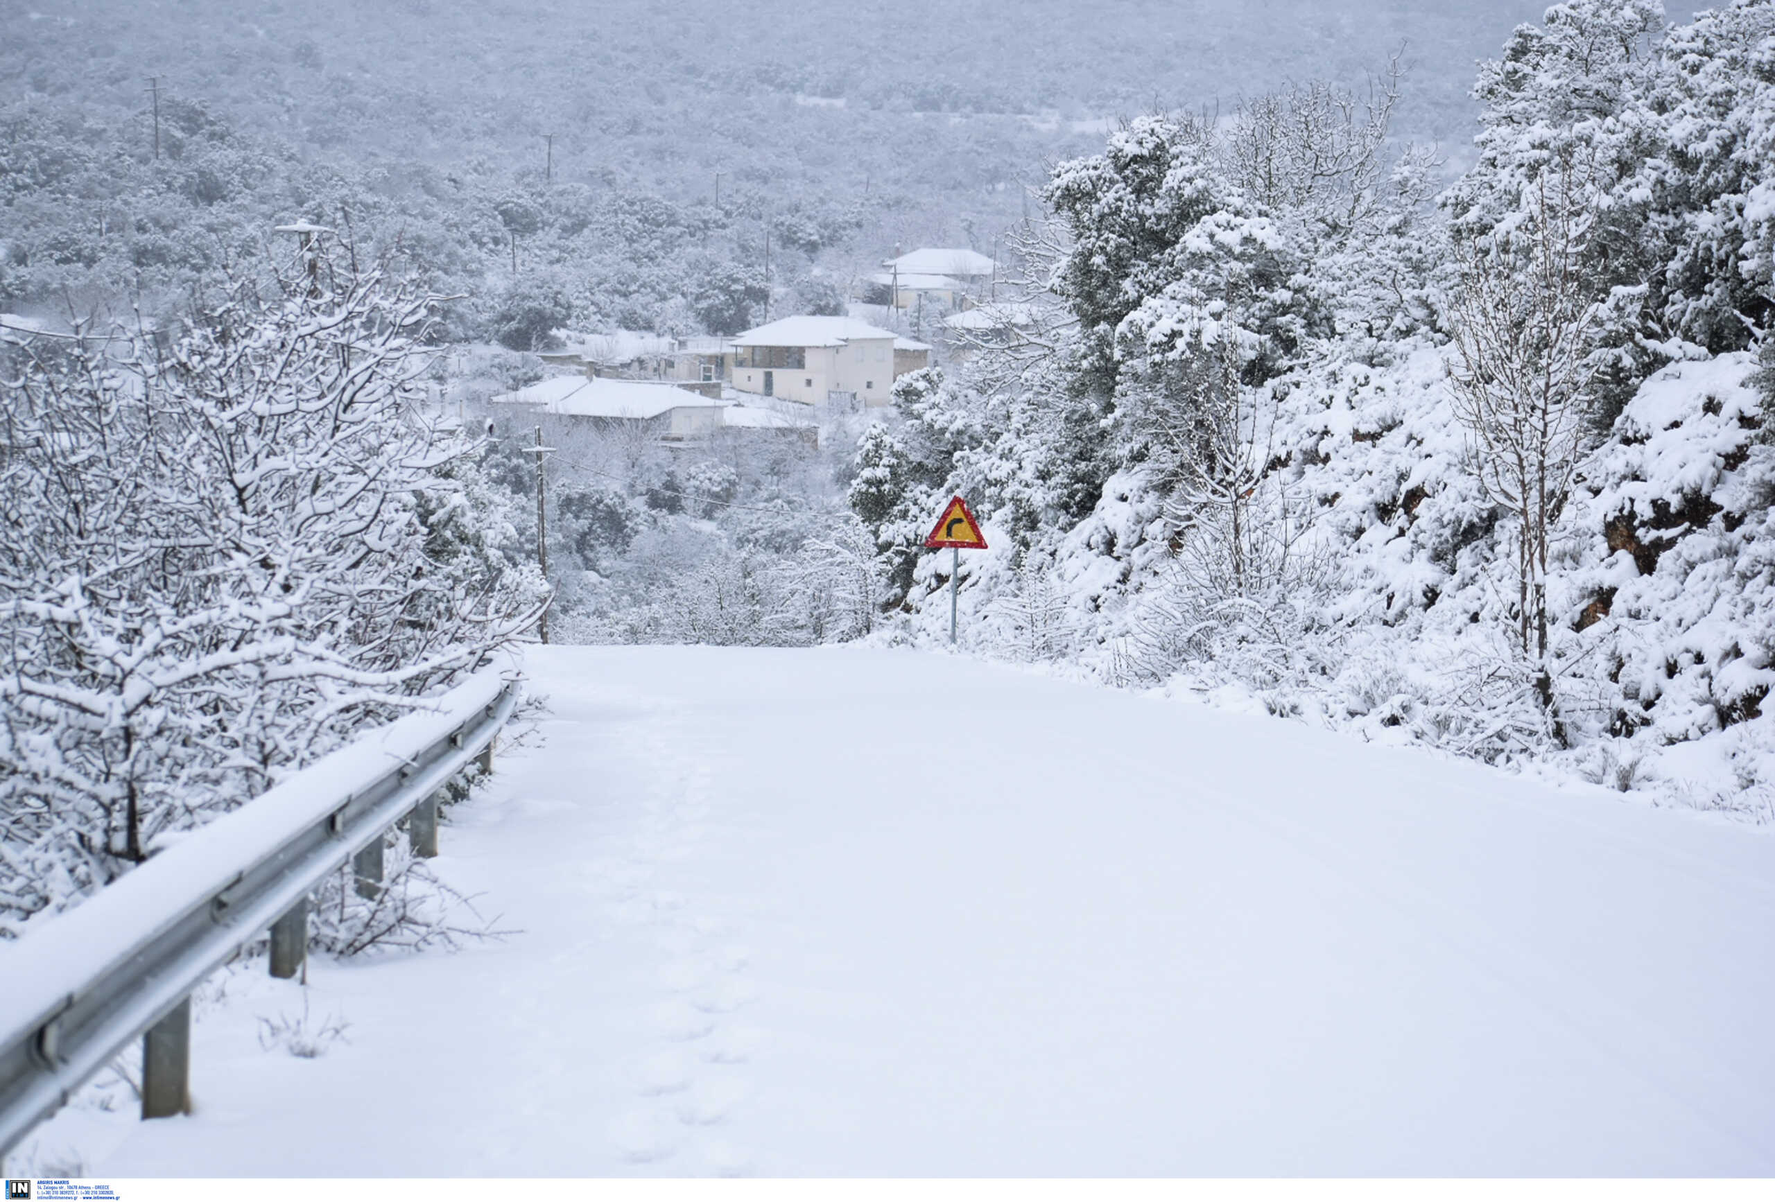
{"type": "Polygon", "coordinates": [[[943,643],[951,492],[976,653],[1775,818],[1771,4],[0,27],[0,934],[545,605],[943,643]],[[816,447],[556,423],[543,577],[488,405],[536,352],[843,312],[923,245],[1019,334],[816,447]]]}

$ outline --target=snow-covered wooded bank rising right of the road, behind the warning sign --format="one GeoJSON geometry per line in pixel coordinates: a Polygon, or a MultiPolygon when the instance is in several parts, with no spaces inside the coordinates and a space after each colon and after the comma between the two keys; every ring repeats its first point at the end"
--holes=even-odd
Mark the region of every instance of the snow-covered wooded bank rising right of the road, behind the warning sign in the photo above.
{"type": "Polygon", "coordinates": [[[1775,7],[1574,0],[1432,195],[1393,92],[1154,114],[902,380],[852,508],[905,632],[1775,818],[1775,7]]]}

